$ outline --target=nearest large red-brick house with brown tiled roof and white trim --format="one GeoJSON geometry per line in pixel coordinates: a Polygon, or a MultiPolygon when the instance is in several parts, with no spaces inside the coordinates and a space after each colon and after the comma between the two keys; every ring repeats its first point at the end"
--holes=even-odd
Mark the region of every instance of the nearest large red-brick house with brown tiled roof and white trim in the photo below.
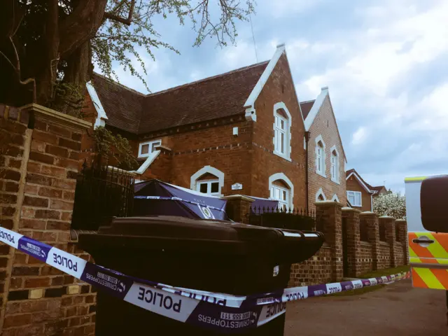
{"type": "Polygon", "coordinates": [[[130,140],[139,179],[306,206],[305,127],[284,45],[268,62],[162,92],[99,75],[87,90],[85,116],[130,140]]]}

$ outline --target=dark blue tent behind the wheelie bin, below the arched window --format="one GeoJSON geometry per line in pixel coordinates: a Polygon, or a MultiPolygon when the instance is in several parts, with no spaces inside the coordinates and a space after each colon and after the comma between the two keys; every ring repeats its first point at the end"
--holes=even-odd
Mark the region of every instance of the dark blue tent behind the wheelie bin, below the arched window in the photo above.
{"type": "Polygon", "coordinates": [[[228,221],[226,200],[156,179],[135,184],[134,216],[162,215],[228,221]]]}

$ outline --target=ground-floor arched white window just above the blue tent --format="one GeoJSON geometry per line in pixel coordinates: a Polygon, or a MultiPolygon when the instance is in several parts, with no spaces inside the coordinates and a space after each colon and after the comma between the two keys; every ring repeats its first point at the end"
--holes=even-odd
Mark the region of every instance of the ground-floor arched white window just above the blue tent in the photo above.
{"type": "Polygon", "coordinates": [[[207,195],[222,195],[223,186],[224,173],[211,166],[203,167],[190,178],[190,188],[207,195]]]}

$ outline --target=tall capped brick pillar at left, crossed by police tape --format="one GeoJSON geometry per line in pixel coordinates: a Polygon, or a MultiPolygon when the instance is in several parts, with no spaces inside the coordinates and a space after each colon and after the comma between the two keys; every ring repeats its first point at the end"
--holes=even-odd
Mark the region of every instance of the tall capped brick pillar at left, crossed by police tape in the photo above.
{"type": "MultiPolygon", "coordinates": [[[[26,174],[20,176],[23,188],[18,190],[22,207],[12,229],[67,251],[80,141],[92,124],[37,104],[24,106],[20,113],[24,120],[29,116],[29,137],[22,151],[26,174]]],[[[73,295],[83,293],[74,278],[10,250],[1,335],[73,335],[75,330],[64,328],[76,325],[81,325],[77,334],[93,335],[94,316],[88,315],[89,307],[66,307],[73,295]]],[[[87,299],[76,301],[85,304],[87,299]]]]}

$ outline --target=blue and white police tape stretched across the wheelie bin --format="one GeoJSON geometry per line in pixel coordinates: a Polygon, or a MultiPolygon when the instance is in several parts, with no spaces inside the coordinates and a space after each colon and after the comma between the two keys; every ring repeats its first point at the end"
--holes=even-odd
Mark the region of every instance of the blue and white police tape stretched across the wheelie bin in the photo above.
{"type": "Polygon", "coordinates": [[[241,332],[264,325],[284,314],[286,303],[290,301],[391,283],[410,277],[407,272],[238,296],[174,287],[127,276],[1,227],[0,241],[120,300],[176,321],[222,332],[241,332]]]}

